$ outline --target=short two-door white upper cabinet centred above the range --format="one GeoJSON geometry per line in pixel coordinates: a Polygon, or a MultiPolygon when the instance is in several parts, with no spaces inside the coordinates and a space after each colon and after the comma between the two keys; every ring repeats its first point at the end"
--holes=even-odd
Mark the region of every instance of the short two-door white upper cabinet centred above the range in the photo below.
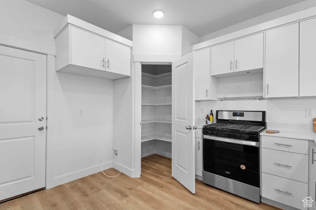
{"type": "Polygon", "coordinates": [[[211,51],[212,76],[237,76],[243,73],[228,74],[226,76],[223,76],[223,74],[249,70],[255,70],[252,73],[262,72],[263,33],[216,45],[211,48],[211,51]]]}

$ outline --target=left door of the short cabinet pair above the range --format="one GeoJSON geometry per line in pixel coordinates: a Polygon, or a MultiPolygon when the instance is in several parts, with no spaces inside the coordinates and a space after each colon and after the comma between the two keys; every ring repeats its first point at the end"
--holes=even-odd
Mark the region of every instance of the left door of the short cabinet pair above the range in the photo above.
{"type": "Polygon", "coordinates": [[[234,72],[234,41],[211,47],[211,75],[234,72]]]}

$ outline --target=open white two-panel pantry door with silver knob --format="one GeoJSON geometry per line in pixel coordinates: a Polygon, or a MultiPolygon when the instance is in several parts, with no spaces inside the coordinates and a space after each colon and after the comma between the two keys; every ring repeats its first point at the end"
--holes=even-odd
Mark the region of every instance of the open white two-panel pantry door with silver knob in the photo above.
{"type": "Polygon", "coordinates": [[[172,62],[172,176],[195,193],[193,55],[172,62]]]}

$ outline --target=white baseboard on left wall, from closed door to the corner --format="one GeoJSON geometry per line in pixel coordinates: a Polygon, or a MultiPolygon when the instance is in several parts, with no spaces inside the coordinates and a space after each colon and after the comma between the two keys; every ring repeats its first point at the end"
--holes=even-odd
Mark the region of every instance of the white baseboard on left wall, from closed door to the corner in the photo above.
{"type": "MultiPolygon", "coordinates": [[[[113,166],[112,161],[109,161],[109,162],[103,163],[102,169],[106,170],[106,169],[112,168],[112,166],[113,166]]],[[[67,182],[71,182],[71,181],[76,180],[76,179],[80,179],[80,178],[85,177],[85,176],[89,176],[89,175],[94,174],[94,173],[98,173],[100,171],[101,171],[101,164],[97,165],[97,166],[90,167],[90,168],[86,168],[86,169],[83,169],[80,171],[76,171],[73,173],[69,173],[69,174],[66,174],[66,175],[63,175],[60,177],[56,177],[53,180],[53,185],[54,185],[53,187],[56,187],[56,186],[61,185],[61,184],[65,184],[67,182]]]]}

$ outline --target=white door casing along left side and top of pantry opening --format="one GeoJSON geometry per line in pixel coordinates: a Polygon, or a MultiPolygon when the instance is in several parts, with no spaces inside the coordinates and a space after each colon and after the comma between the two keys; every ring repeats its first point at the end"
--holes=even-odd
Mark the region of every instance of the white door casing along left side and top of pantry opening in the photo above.
{"type": "Polygon", "coordinates": [[[161,54],[134,54],[133,62],[135,66],[135,146],[134,157],[134,177],[141,175],[141,116],[142,116],[142,64],[151,65],[171,65],[173,61],[181,58],[181,55],[161,55],[161,54]]]}

